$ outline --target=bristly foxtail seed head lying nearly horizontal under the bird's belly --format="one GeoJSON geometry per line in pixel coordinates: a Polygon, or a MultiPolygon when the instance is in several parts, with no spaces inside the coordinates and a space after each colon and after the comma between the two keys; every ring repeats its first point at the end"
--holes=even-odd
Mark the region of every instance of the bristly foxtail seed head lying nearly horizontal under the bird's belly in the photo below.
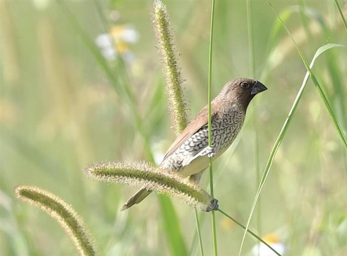
{"type": "Polygon", "coordinates": [[[204,211],[218,208],[218,201],[211,198],[196,183],[147,162],[94,163],[85,171],[93,179],[145,187],[148,190],[178,197],[188,205],[199,207],[204,211]]]}

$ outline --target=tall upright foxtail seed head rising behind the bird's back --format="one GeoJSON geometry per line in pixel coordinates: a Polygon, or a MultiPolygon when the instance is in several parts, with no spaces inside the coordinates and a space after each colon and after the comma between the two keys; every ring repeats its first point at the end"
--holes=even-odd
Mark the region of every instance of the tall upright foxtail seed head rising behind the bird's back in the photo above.
{"type": "Polygon", "coordinates": [[[157,47],[161,55],[166,78],[170,115],[173,128],[176,134],[179,134],[187,126],[187,103],[182,88],[183,80],[180,67],[177,64],[170,19],[166,6],[162,1],[154,1],[152,17],[157,47]]]}

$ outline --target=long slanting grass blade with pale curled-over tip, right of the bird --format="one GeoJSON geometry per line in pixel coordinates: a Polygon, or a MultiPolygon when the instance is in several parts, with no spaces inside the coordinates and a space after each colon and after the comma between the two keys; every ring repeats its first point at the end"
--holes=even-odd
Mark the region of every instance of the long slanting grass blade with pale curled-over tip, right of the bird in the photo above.
{"type": "MultiPolygon", "coordinates": [[[[327,44],[327,45],[324,45],[322,46],[321,48],[319,48],[316,52],[316,54],[314,55],[312,61],[311,61],[311,64],[309,67],[312,67],[315,60],[318,58],[318,56],[320,56],[322,53],[324,53],[325,51],[327,51],[328,49],[331,49],[331,48],[334,48],[334,47],[343,47],[342,45],[338,45],[338,44],[327,44]]],[[[270,168],[272,166],[272,163],[273,163],[273,160],[275,158],[275,155],[277,153],[277,150],[286,134],[286,131],[289,127],[289,124],[290,124],[290,121],[291,121],[291,118],[293,117],[293,114],[295,113],[295,110],[298,106],[298,103],[301,99],[301,96],[302,96],[302,93],[303,93],[303,90],[304,88],[306,87],[306,84],[307,84],[307,80],[308,80],[308,77],[310,76],[310,72],[307,71],[306,74],[305,74],[305,77],[302,81],[302,84],[301,84],[301,87],[294,99],[294,102],[290,108],[290,111],[289,111],[289,114],[288,114],[288,117],[285,121],[285,123],[283,124],[282,126],[282,129],[276,139],[276,142],[275,142],[275,145],[274,147],[272,148],[271,150],[271,153],[270,153],[270,156],[269,156],[269,159],[266,163],[266,166],[265,166],[265,169],[264,169],[264,172],[263,172],[263,175],[262,175],[262,178],[261,178],[261,181],[260,181],[260,184],[259,184],[259,187],[258,187],[258,191],[256,192],[256,195],[255,195],[255,198],[254,198],[254,201],[253,201],[253,204],[252,204],[252,207],[251,207],[251,210],[250,210],[250,213],[249,213],[249,216],[248,216],[248,220],[247,220],[247,224],[246,224],[246,229],[245,229],[245,232],[243,233],[243,237],[242,237],[242,242],[241,242],[241,245],[240,245],[240,250],[239,250],[239,255],[241,254],[241,250],[242,250],[242,246],[243,246],[243,243],[244,243],[244,239],[245,239],[245,236],[246,236],[246,232],[248,230],[248,227],[249,227],[249,223],[250,223],[250,220],[252,218],[252,215],[253,215],[253,212],[254,212],[254,209],[255,209],[255,205],[257,203],[257,200],[259,198],[259,195],[260,195],[260,192],[263,188],[263,185],[265,183],[265,180],[267,179],[268,175],[269,175],[269,171],[270,171],[270,168]]]]}

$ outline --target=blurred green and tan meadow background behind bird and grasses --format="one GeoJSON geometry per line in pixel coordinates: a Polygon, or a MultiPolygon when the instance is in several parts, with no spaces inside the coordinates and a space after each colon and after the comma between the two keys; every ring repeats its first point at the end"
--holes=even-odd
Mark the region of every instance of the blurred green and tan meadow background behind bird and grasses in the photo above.
{"type": "MultiPolygon", "coordinates": [[[[211,3],[164,2],[193,117],[207,102],[211,3]]],[[[339,2],[346,15],[346,1],[339,2]]],[[[238,139],[214,164],[215,197],[241,223],[259,177],[254,130],[261,173],[306,71],[268,3],[251,4],[256,78],[269,90],[251,104],[238,139]]],[[[324,44],[347,44],[334,1],[273,4],[287,15],[308,60],[324,44]]],[[[83,172],[95,161],[148,159],[146,139],[160,161],[174,140],[151,8],[149,0],[1,1],[0,255],[77,254],[55,220],[14,197],[19,184],[64,198],[83,216],[102,255],[172,254],[155,194],[120,212],[136,188],[88,180],[83,172]]],[[[213,54],[213,95],[231,78],[250,76],[245,1],[217,0],[213,54]]],[[[313,69],[345,134],[346,60],[346,49],[331,49],[313,69]]],[[[207,186],[207,176],[201,186],[207,186]]],[[[199,255],[194,211],[172,201],[186,251],[199,255]]],[[[237,255],[243,231],[216,214],[220,255],[237,255]]],[[[210,215],[200,218],[205,254],[211,255],[210,215]]],[[[272,234],[287,255],[347,255],[347,154],[310,80],[251,228],[272,234]]],[[[244,255],[256,244],[247,236],[244,255]]]]}

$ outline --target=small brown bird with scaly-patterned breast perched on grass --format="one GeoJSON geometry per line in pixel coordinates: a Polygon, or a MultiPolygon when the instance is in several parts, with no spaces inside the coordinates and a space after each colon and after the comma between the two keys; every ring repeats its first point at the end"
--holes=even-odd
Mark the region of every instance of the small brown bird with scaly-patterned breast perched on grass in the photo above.
{"type": "MultiPolygon", "coordinates": [[[[264,84],[250,78],[229,81],[211,102],[212,147],[208,146],[208,114],[205,106],[177,136],[159,167],[198,181],[208,167],[208,158],[216,159],[235,139],[243,125],[249,102],[266,89],[264,84]]],[[[121,210],[141,202],[150,193],[145,188],[141,189],[127,200],[121,210]]]]}

